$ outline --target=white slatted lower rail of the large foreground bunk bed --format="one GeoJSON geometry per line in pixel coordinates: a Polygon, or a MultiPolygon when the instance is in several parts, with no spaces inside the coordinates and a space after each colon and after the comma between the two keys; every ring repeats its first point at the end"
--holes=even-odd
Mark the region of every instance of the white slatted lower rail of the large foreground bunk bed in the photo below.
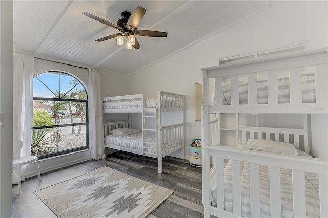
{"type": "Polygon", "coordinates": [[[313,158],[268,154],[261,151],[240,150],[240,148],[227,147],[204,147],[203,148],[204,166],[207,175],[211,175],[210,180],[204,181],[205,187],[213,187],[216,181],[216,193],[214,195],[217,199],[217,205],[212,206],[210,202],[210,190],[205,190],[204,205],[205,217],[210,217],[214,214],[218,217],[241,217],[241,181],[240,181],[240,162],[250,163],[250,214],[252,217],[261,217],[260,215],[260,182],[259,182],[259,165],[268,165],[270,173],[270,215],[271,217],[281,217],[280,195],[280,168],[292,170],[292,185],[293,185],[293,212],[294,217],[306,217],[306,198],[305,198],[305,180],[304,173],[311,172],[319,175],[319,193],[320,193],[320,213],[321,217],[327,217],[328,209],[327,201],[327,184],[328,176],[327,162],[321,159],[313,160],[313,158]],[[210,158],[215,163],[215,166],[210,171],[210,158]],[[232,160],[232,190],[233,190],[233,211],[226,212],[224,199],[224,159],[232,160]],[[211,184],[212,183],[212,184],[211,184]]]}

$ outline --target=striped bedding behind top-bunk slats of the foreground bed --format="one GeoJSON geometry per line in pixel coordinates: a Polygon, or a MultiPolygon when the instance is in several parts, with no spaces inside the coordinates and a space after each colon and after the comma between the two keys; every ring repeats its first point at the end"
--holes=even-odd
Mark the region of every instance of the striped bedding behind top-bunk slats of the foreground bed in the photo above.
{"type": "MultiPolygon", "coordinates": [[[[231,104],[231,85],[224,84],[223,104],[231,104]]],[[[268,82],[267,80],[257,81],[257,101],[258,104],[268,103],[268,82]]],[[[215,104],[215,91],[212,93],[212,102],[215,104]]],[[[278,78],[278,102],[290,103],[289,77],[278,78]]],[[[302,103],[315,103],[315,74],[302,74],[302,103]]],[[[239,104],[248,104],[248,84],[247,81],[239,82],[239,104]]]]}

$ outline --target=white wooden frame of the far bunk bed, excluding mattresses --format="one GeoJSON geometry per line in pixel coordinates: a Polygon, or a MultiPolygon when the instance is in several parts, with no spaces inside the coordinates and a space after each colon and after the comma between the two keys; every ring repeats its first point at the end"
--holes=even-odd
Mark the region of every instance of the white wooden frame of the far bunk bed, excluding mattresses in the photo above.
{"type": "Polygon", "coordinates": [[[157,92],[157,107],[146,108],[144,94],[136,95],[125,95],[125,96],[114,96],[106,97],[103,99],[103,112],[104,113],[129,113],[129,119],[124,121],[106,122],[104,123],[104,135],[108,135],[109,132],[116,128],[131,128],[131,113],[142,113],[142,134],[144,137],[144,148],[142,150],[136,150],[131,148],[120,147],[112,144],[105,143],[105,147],[124,150],[133,154],[144,155],[158,159],[158,173],[162,173],[162,157],[171,154],[174,151],[181,150],[181,159],[185,158],[185,140],[184,140],[184,102],[185,96],[175,93],[157,92]],[[134,101],[133,99],[141,99],[140,101],[134,101]],[[120,103],[106,103],[111,100],[124,100],[120,103]],[[130,101],[131,100],[131,101],[130,101]],[[138,108],[127,108],[127,109],[108,109],[109,106],[121,106],[121,105],[134,105],[138,108]],[[178,113],[178,122],[173,121],[168,124],[168,120],[165,120],[163,125],[163,114],[170,112],[181,112],[178,113]],[[149,114],[151,113],[151,114],[149,114]],[[147,122],[155,122],[154,129],[147,129],[147,122]],[[146,132],[156,133],[156,142],[146,142],[146,132]],[[179,140],[178,140],[179,139],[179,140]],[[180,143],[177,143],[179,141],[180,143]],[[147,144],[156,145],[155,148],[147,147],[147,144]],[[155,152],[147,152],[145,148],[153,149],[155,152]]]}

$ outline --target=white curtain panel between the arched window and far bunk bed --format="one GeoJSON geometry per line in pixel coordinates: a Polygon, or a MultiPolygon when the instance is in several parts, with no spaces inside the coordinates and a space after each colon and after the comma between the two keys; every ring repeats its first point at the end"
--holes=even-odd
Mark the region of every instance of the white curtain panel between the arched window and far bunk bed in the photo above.
{"type": "Polygon", "coordinates": [[[94,160],[106,158],[103,128],[103,101],[100,92],[100,76],[97,70],[89,69],[88,79],[89,147],[94,160]]]}

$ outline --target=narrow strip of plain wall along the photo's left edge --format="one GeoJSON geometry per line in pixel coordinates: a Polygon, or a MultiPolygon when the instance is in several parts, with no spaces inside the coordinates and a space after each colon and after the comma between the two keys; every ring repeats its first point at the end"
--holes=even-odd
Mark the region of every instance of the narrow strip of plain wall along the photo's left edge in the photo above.
{"type": "Polygon", "coordinates": [[[0,217],[11,217],[13,3],[0,1],[0,217]]]}

